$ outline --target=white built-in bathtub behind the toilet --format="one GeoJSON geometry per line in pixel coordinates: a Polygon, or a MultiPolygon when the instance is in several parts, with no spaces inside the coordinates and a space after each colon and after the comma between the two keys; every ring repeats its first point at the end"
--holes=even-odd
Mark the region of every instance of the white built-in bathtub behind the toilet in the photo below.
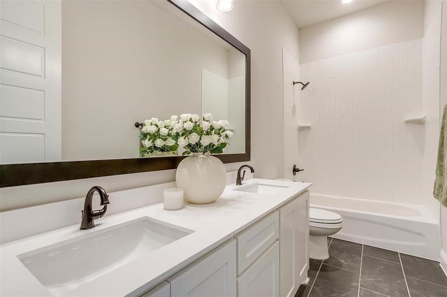
{"type": "Polygon", "coordinates": [[[438,260],[439,223],[424,206],[312,194],[311,207],[343,217],[335,238],[438,260]]]}

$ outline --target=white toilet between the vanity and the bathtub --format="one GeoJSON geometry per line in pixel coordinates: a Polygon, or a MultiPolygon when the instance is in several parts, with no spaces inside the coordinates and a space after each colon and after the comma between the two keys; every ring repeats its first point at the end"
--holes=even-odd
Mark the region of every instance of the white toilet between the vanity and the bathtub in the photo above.
{"type": "Polygon", "coordinates": [[[341,230],[343,219],[338,213],[309,209],[309,258],[324,260],[329,257],[327,237],[341,230]]]}

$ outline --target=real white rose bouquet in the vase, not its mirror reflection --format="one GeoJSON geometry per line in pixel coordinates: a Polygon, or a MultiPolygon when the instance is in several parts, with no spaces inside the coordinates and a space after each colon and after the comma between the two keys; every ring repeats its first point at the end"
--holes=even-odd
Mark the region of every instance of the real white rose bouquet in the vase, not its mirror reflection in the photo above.
{"type": "Polygon", "coordinates": [[[227,130],[230,123],[227,120],[213,121],[211,113],[184,113],[179,123],[174,127],[177,144],[185,149],[182,155],[192,152],[223,153],[227,141],[233,132],[227,130]]]}

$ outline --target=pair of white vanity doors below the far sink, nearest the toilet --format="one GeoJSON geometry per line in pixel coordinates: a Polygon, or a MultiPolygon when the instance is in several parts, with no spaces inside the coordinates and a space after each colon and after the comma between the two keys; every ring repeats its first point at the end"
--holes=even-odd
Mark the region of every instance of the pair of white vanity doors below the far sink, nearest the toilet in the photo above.
{"type": "Polygon", "coordinates": [[[279,209],[280,296],[293,297],[309,270],[309,191],[279,209]]]}

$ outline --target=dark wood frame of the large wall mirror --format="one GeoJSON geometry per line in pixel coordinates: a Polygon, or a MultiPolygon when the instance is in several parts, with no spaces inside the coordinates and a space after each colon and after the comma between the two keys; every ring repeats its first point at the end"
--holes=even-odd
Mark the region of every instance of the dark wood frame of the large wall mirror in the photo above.
{"type": "MultiPolygon", "coordinates": [[[[250,161],[250,49],[186,0],[167,0],[246,55],[245,153],[215,155],[224,163],[250,161]]],[[[0,188],[175,169],[185,157],[133,158],[0,165],[0,188]]]]}

